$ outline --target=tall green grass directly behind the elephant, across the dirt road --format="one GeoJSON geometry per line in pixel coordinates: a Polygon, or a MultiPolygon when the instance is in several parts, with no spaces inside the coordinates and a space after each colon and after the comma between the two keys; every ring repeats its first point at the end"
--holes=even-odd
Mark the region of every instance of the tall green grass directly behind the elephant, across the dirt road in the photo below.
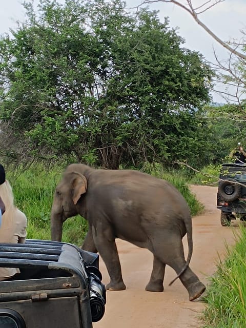
{"type": "MultiPolygon", "coordinates": [[[[50,239],[50,212],[55,186],[63,169],[55,168],[47,173],[44,168],[28,169],[18,174],[7,171],[17,207],[28,217],[28,238],[50,239]]],[[[202,211],[187,186],[186,179],[175,172],[158,168],[153,175],[170,181],[185,196],[192,215],[202,211]]],[[[81,245],[87,232],[87,221],[79,215],[68,219],[63,226],[63,241],[81,245]]]]}

